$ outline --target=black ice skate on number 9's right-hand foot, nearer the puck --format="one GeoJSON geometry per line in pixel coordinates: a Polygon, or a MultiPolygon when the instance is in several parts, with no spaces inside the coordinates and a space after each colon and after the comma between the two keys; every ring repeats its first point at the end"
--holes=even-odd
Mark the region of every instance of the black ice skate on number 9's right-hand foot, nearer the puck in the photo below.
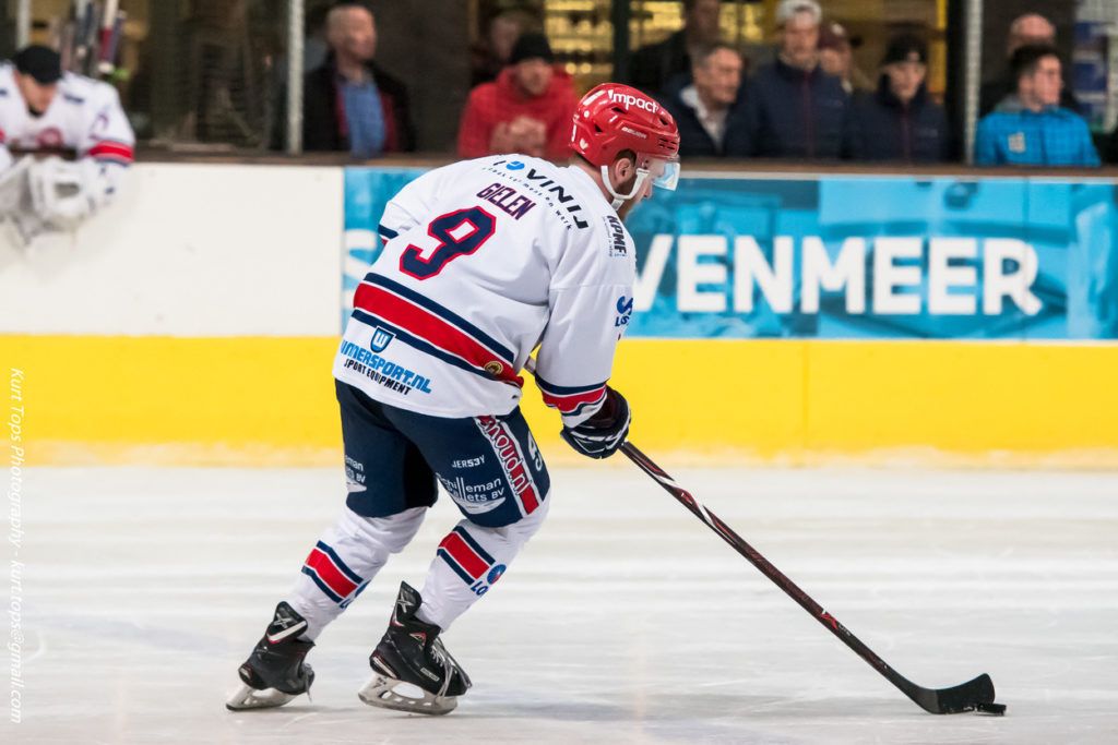
{"type": "Polygon", "coordinates": [[[449,714],[470,689],[470,676],[438,638],[439,629],[416,618],[423,598],[406,582],[388,631],[369,657],[372,678],[358,696],[369,706],[413,714],[449,714]]]}

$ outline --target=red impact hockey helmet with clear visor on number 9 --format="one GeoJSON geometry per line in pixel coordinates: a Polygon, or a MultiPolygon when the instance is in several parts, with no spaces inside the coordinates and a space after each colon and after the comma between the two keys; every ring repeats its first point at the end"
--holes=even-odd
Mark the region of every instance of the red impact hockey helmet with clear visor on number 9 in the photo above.
{"type": "Polygon", "coordinates": [[[680,131],[663,106],[636,88],[603,83],[582,96],[575,109],[570,146],[601,169],[614,209],[641,192],[650,176],[653,184],[674,190],[680,178],[680,131]],[[628,194],[618,194],[608,170],[618,153],[636,153],[637,179],[628,194]]]}

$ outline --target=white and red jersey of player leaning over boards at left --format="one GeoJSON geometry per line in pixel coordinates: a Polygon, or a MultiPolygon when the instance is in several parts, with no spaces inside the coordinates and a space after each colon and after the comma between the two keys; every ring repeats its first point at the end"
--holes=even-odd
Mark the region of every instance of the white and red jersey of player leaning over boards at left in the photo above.
{"type": "Polygon", "coordinates": [[[113,86],[64,73],[50,106],[41,116],[32,116],[15,71],[11,63],[0,65],[0,168],[11,163],[9,149],[74,150],[79,159],[92,157],[105,165],[132,163],[135,135],[113,86]]]}

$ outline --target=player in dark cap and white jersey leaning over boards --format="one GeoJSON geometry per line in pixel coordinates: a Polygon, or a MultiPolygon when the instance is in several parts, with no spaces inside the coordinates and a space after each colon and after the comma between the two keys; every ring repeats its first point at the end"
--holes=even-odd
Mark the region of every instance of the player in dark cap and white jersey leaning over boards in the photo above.
{"type": "Polygon", "coordinates": [[[104,207],[134,144],[115,88],[63,73],[53,49],[26,47],[0,65],[0,216],[22,242],[73,229],[104,207]]]}

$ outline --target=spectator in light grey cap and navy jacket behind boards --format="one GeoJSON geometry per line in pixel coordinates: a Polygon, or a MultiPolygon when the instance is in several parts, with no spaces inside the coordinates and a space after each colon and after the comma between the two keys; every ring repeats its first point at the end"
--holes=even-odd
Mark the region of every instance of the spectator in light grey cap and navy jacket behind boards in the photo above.
{"type": "Polygon", "coordinates": [[[850,96],[819,67],[822,11],[814,0],[783,0],[776,61],[757,70],[746,95],[745,126],[727,150],[758,157],[836,159],[853,151],[850,96]]]}

